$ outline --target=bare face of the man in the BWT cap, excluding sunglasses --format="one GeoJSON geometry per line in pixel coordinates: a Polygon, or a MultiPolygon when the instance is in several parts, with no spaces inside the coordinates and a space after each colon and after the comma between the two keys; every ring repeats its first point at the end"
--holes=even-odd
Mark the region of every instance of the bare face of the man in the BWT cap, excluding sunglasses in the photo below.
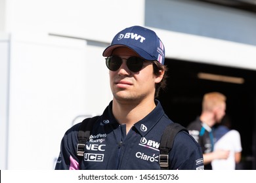
{"type": "Polygon", "coordinates": [[[119,47],[112,55],[119,56],[123,61],[117,71],[110,71],[110,88],[114,99],[125,103],[154,99],[155,84],[161,81],[162,75],[154,75],[153,62],[144,61],[142,69],[134,73],[127,68],[126,59],[138,56],[136,52],[126,47],[119,47]]]}

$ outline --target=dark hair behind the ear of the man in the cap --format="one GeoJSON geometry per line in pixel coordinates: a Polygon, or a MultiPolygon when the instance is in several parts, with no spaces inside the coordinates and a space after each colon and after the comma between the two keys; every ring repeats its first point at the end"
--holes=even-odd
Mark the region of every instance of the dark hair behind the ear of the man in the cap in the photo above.
{"type": "Polygon", "coordinates": [[[160,76],[160,72],[159,71],[165,71],[163,78],[161,80],[161,82],[156,84],[156,92],[155,92],[155,98],[158,97],[160,90],[164,90],[165,87],[167,86],[167,67],[166,65],[162,65],[161,63],[159,63],[158,61],[153,61],[153,69],[154,69],[154,75],[156,76],[160,76]]]}

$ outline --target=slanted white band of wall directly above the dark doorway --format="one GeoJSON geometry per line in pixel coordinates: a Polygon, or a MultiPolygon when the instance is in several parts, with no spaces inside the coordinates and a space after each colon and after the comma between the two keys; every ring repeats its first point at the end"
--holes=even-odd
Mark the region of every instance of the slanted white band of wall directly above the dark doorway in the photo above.
{"type": "Polygon", "coordinates": [[[256,46],[152,29],[163,37],[167,58],[256,70],[256,46]]]}

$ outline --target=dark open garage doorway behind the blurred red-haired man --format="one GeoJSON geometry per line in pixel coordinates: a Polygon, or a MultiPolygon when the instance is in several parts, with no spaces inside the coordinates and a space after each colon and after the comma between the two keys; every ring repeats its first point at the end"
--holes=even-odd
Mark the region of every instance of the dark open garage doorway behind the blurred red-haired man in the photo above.
{"type": "Polygon", "coordinates": [[[160,92],[160,101],[166,114],[174,122],[185,127],[201,113],[202,97],[207,92],[221,92],[227,97],[226,114],[232,120],[232,128],[240,132],[242,139],[241,169],[256,169],[256,71],[209,65],[177,59],[166,59],[169,71],[167,89],[160,92]],[[234,84],[198,78],[198,73],[236,76],[244,78],[244,84],[234,84]],[[254,159],[254,160],[253,160],[254,159]]]}

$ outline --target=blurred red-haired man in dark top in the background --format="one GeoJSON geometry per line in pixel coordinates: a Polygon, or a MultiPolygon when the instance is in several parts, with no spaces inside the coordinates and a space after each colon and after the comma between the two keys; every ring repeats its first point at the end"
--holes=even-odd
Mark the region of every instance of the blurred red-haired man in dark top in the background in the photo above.
{"type": "Polygon", "coordinates": [[[205,93],[202,102],[202,113],[187,129],[200,144],[203,151],[205,169],[211,169],[213,159],[228,158],[228,150],[213,152],[214,137],[212,127],[220,123],[226,111],[226,96],[219,92],[205,93]]]}

